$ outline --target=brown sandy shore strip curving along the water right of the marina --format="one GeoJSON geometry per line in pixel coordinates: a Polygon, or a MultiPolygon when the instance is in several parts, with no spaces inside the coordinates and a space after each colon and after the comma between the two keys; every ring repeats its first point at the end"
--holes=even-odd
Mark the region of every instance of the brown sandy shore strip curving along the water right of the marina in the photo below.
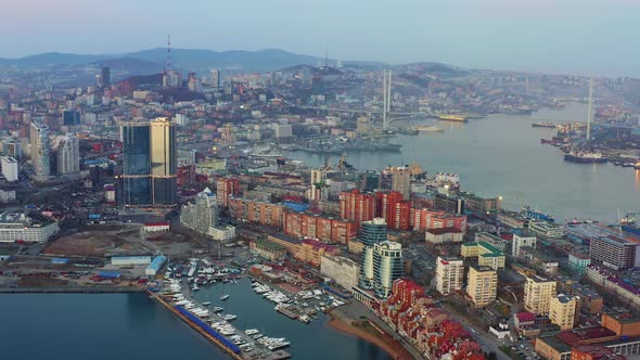
{"type": "MultiPolygon", "coordinates": [[[[335,311],[330,313],[331,320],[329,321],[329,326],[335,331],[340,331],[342,333],[355,336],[357,338],[363,339],[368,343],[371,343],[386,353],[388,353],[394,359],[399,360],[411,360],[413,357],[409,353],[405,347],[398,343],[396,339],[393,338],[391,334],[385,333],[386,336],[375,336],[362,329],[358,329],[353,324],[353,319],[346,316],[338,316],[335,311]]],[[[369,322],[369,321],[368,321],[369,322]]]]}

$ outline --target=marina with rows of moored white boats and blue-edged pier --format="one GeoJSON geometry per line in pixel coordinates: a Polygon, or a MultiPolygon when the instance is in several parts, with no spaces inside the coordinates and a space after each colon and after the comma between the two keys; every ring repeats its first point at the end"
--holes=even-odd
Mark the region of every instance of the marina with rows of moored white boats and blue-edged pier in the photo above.
{"type": "Polygon", "coordinates": [[[151,294],[152,298],[234,359],[286,359],[292,355],[285,349],[294,344],[281,334],[269,336],[268,329],[253,324],[253,320],[247,321],[242,312],[236,314],[239,309],[234,301],[239,297],[271,303],[269,312],[277,314],[279,321],[303,326],[325,319],[322,312],[346,304],[321,288],[291,293],[278,284],[251,280],[206,259],[191,259],[189,265],[169,265],[164,280],[161,291],[151,294]],[[253,295],[234,294],[236,290],[247,287],[253,295]]]}

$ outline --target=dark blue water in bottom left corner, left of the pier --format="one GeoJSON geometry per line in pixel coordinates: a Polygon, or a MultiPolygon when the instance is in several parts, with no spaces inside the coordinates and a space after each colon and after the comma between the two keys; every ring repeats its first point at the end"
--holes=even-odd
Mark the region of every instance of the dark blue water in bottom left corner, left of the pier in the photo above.
{"type": "Polygon", "coordinates": [[[227,359],[146,294],[4,294],[2,359],[227,359]]]}

